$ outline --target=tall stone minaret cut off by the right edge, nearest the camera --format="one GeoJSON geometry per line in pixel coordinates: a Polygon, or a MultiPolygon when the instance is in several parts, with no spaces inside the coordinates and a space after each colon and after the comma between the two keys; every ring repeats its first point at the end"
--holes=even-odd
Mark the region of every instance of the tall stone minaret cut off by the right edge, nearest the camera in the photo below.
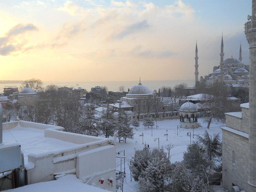
{"type": "Polygon", "coordinates": [[[249,167],[248,191],[256,191],[256,0],[252,0],[252,17],[244,25],[249,43],[249,167]]]}

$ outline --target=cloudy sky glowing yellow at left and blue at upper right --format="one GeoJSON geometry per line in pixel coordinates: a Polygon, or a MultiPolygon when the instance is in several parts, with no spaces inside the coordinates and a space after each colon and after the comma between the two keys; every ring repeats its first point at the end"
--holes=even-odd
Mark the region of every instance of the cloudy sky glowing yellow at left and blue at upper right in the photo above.
{"type": "Polygon", "coordinates": [[[0,0],[0,80],[195,79],[224,59],[249,64],[251,0],[0,0]]]}

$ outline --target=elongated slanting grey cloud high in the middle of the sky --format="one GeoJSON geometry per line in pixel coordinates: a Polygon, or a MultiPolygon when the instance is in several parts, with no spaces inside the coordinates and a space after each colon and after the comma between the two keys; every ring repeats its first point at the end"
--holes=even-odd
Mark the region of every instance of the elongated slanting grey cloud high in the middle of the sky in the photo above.
{"type": "Polygon", "coordinates": [[[134,33],[137,33],[137,32],[140,32],[144,29],[147,29],[149,28],[149,25],[148,25],[148,21],[147,20],[143,20],[141,22],[137,22],[137,23],[134,23],[132,25],[129,25],[127,26],[123,31],[121,31],[120,33],[118,34],[113,34],[112,37],[113,38],[118,38],[118,39],[122,39],[124,38],[125,36],[128,36],[128,35],[131,35],[131,34],[134,34],[134,33]]]}

